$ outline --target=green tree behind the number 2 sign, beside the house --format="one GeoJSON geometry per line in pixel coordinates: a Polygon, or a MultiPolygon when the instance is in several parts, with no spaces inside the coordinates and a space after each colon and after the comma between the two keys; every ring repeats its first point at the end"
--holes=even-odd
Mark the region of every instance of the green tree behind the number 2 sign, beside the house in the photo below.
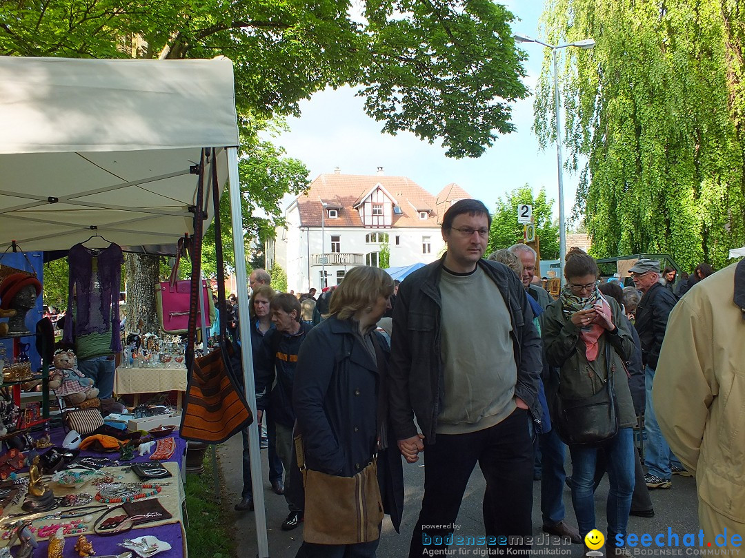
{"type": "Polygon", "coordinates": [[[534,197],[533,189],[527,184],[507,193],[504,200],[501,197],[497,200],[486,253],[522,242],[523,225],[517,222],[517,208],[524,203],[533,205],[533,223],[539,237],[541,259],[556,260],[559,257],[559,226],[553,222],[551,208],[554,200],[546,199],[545,188],[534,197]]]}

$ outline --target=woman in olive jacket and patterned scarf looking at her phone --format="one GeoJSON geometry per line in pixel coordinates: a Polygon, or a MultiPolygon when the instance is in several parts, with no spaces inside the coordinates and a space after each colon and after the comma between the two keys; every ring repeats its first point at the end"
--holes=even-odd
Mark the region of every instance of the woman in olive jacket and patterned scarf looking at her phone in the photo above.
{"type": "MultiPolygon", "coordinates": [[[[636,415],[624,368],[633,354],[634,341],[621,307],[597,289],[597,263],[592,257],[572,248],[566,256],[564,275],[565,288],[543,315],[543,342],[548,364],[559,368],[562,397],[590,397],[606,389],[607,381],[613,382],[619,428],[602,449],[608,458],[610,481],[606,540],[609,548],[614,548],[617,534],[626,537],[634,490],[636,415]],[[606,362],[607,344],[610,362],[606,362]]],[[[599,449],[569,445],[571,501],[582,537],[596,527],[593,479],[599,449]]]]}

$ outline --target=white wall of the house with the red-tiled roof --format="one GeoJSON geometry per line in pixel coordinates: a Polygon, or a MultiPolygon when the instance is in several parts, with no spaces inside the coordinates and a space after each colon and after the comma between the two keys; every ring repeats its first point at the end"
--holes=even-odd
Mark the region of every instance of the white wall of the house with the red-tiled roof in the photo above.
{"type": "MultiPolygon", "coordinates": [[[[412,263],[431,263],[442,253],[440,228],[361,228],[361,227],[300,227],[297,207],[286,214],[287,230],[277,231],[276,261],[287,271],[288,289],[308,292],[311,286],[320,289],[325,267],[329,286],[336,285],[346,270],[356,265],[376,263],[382,246],[380,238],[370,234],[387,234],[390,248],[390,266],[408,266],[412,263]],[[282,237],[285,240],[282,240],[282,237]],[[323,239],[323,245],[322,245],[323,239]],[[370,242],[369,240],[374,240],[370,242]],[[332,246],[333,242],[333,246],[332,246]],[[282,243],[285,246],[280,246],[282,243]],[[427,245],[427,246],[425,246],[427,245]],[[326,254],[326,266],[320,257],[326,254]],[[282,257],[285,261],[282,262],[282,257]],[[337,255],[338,254],[338,255],[337,255]]],[[[326,222],[333,219],[326,219],[326,222]]]]}

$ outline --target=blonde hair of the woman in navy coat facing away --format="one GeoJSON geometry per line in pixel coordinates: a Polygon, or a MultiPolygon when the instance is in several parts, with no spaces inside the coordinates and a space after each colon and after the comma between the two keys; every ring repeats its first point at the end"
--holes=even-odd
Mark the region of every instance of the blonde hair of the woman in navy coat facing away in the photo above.
{"type": "Polygon", "coordinates": [[[393,279],[390,275],[377,267],[353,267],[334,290],[329,315],[346,320],[358,310],[373,304],[378,297],[388,298],[390,295],[393,295],[393,279]]]}

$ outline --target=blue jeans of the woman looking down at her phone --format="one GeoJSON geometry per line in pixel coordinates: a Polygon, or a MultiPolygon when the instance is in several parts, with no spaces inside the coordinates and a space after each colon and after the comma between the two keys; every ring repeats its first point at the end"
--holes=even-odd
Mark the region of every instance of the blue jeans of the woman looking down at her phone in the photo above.
{"type": "MultiPolygon", "coordinates": [[[[614,541],[620,533],[626,536],[631,509],[631,495],[634,491],[634,449],[633,429],[618,429],[618,434],[603,447],[607,458],[608,533],[606,541],[614,541]]],[[[584,537],[595,529],[595,462],[597,454],[603,451],[598,448],[569,446],[571,453],[571,503],[574,515],[580,527],[580,536],[584,537]]]]}

